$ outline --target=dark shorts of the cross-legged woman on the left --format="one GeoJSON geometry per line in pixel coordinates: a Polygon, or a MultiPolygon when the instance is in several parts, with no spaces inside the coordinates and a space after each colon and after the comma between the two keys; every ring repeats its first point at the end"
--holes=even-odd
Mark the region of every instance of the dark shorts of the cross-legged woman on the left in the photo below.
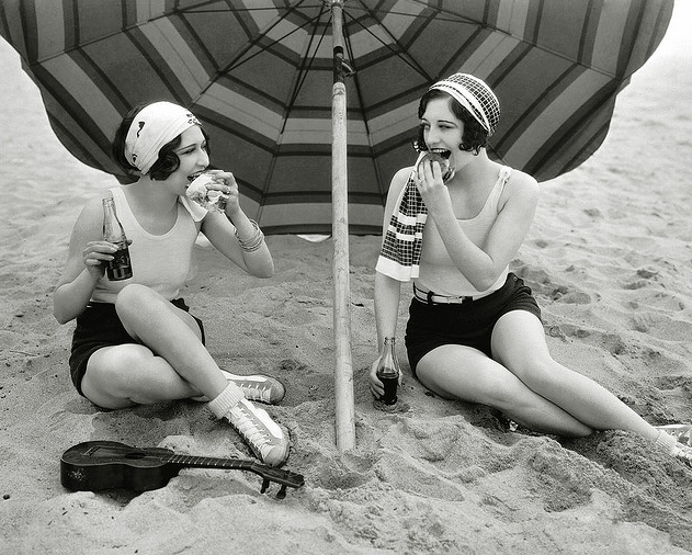
{"type": "MultiPolygon", "coordinates": [[[[190,307],[182,298],[174,298],[171,304],[178,308],[190,312],[190,307]]],[[[191,315],[200,326],[202,331],[202,343],[204,343],[204,325],[202,320],[191,315]]],[[[77,317],[77,328],[72,335],[72,352],[70,354],[70,374],[72,384],[82,397],[81,381],[87,373],[89,358],[99,349],[124,343],[136,343],[121,322],[112,303],[89,303],[82,314],[77,317]]]]}

